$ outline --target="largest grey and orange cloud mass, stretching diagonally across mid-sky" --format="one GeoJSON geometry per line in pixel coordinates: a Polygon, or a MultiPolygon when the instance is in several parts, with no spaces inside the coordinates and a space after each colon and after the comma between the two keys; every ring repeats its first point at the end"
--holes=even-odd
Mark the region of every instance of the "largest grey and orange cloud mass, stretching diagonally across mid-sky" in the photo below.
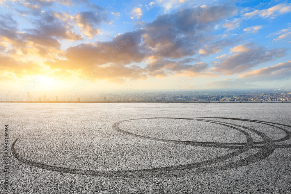
{"type": "Polygon", "coordinates": [[[148,76],[164,77],[168,74],[189,72],[197,76],[206,74],[208,64],[199,63],[199,59],[189,56],[199,50],[200,42],[207,41],[205,31],[212,30],[216,23],[236,14],[237,11],[232,5],[216,5],[198,21],[195,15],[200,14],[200,10],[203,8],[183,9],[157,16],[157,19],[148,24],[140,23],[138,30],[118,34],[110,41],[71,46],[65,51],[65,59],[46,61],[45,64],[51,69],[80,71],[83,76],[97,68],[102,72],[98,74],[98,79],[105,79],[106,76],[113,79],[113,74],[109,72],[118,73],[113,69],[116,67],[120,68],[120,71],[123,68],[126,70],[120,73],[118,77],[120,79],[125,77],[145,79],[148,76]],[[189,20],[190,17],[195,19],[189,20]],[[162,53],[163,59],[156,60],[164,50],[167,53],[162,53]],[[184,59],[178,61],[168,59],[183,57],[184,59]],[[125,66],[145,60],[151,61],[145,69],[132,66],[127,69],[125,66]],[[130,76],[133,75],[133,71],[137,72],[136,75],[130,76]]]}

